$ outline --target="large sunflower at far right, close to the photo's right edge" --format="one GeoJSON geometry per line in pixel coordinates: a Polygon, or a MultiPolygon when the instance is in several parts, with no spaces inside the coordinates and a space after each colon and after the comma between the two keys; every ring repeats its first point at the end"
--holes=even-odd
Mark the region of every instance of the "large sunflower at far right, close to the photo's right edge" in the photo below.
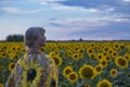
{"type": "Polygon", "coordinates": [[[127,69],[128,67],[128,61],[121,57],[117,57],[115,60],[115,63],[120,69],[127,69]]]}

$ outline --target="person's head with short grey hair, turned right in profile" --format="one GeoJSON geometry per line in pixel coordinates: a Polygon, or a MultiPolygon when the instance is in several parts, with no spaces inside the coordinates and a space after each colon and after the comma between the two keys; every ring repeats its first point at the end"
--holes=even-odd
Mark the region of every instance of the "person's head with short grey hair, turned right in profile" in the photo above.
{"type": "Polygon", "coordinates": [[[46,30],[42,27],[29,27],[25,33],[25,44],[27,47],[31,48],[35,45],[44,46],[46,45],[46,30]]]}

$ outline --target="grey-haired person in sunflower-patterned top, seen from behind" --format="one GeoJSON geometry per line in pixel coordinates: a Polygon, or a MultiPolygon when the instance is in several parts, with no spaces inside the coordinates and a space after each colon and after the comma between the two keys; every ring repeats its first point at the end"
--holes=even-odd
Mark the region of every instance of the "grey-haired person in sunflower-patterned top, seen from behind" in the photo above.
{"type": "Polygon", "coordinates": [[[46,45],[44,32],[42,27],[27,29],[27,53],[17,61],[5,87],[57,87],[58,72],[55,62],[40,52],[40,48],[46,45]]]}

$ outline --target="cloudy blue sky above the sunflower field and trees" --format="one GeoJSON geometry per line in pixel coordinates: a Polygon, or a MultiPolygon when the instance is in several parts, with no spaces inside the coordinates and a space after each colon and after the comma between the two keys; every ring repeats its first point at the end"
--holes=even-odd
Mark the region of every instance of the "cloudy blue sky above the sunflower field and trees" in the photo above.
{"type": "Polygon", "coordinates": [[[0,40],[43,27],[48,40],[130,40],[130,0],[0,0],[0,40]]]}

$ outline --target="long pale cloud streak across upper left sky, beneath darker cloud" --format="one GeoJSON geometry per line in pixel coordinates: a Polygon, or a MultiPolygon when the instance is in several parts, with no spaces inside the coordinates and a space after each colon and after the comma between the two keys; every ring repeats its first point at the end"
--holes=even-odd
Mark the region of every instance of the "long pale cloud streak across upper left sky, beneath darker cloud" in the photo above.
{"type": "MultiPolygon", "coordinates": [[[[98,9],[84,9],[81,7],[69,7],[69,5],[61,5],[58,3],[49,3],[43,7],[39,7],[38,9],[23,9],[23,8],[14,8],[14,7],[2,7],[0,11],[5,13],[13,14],[38,14],[43,12],[54,12],[60,11],[58,13],[73,13],[73,12],[88,12],[88,13],[100,13],[98,9]]],[[[80,13],[78,13],[80,14],[80,13]]],[[[60,15],[62,16],[62,15],[60,15]]]]}

